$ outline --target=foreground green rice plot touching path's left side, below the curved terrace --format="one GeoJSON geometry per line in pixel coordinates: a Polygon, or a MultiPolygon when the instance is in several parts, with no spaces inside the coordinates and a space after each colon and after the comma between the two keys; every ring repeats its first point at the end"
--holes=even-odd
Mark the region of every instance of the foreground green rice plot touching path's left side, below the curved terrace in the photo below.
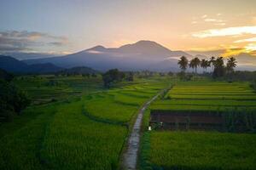
{"type": "Polygon", "coordinates": [[[127,129],[94,122],[82,114],[83,101],[61,106],[44,137],[41,150],[53,169],[114,169],[118,167],[127,129]]]}

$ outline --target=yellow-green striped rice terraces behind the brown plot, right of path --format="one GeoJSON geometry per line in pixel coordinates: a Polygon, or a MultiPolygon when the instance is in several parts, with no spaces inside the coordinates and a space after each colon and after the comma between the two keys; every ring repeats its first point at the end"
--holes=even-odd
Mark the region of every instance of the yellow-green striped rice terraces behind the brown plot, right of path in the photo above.
{"type": "Polygon", "coordinates": [[[152,109],[226,111],[256,109],[256,94],[247,82],[178,82],[152,109]]]}

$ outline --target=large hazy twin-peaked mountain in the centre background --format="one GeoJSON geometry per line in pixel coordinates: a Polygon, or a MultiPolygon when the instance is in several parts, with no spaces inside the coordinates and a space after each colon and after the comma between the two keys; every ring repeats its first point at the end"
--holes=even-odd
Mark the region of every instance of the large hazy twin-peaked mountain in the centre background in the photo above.
{"type": "Polygon", "coordinates": [[[170,65],[170,70],[172,67],[177,68],[177,58],[182,55],[192,57],[192,55],[183,51],[172,51],[157,42],[143,40],[119,48],[96,46],[75,54],[47,59],[27,59],[24,62],[28,65],[52,63],[65,68],[86,65],[99,71],[106,71],[112,68],[132,71],[153,70],[150,67],[152,65],[154,65],[154,70],[161,70],[161,65],[156,64],[168,61],[173,64],[175,63],[175,65],[170,65]]]}

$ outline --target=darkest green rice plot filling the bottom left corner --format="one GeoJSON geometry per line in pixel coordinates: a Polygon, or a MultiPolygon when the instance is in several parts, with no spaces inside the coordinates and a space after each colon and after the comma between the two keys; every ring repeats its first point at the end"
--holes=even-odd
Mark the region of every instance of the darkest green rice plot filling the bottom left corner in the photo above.
{"type": "Polygon", "coordinates": [[[32,107],[1,126],[0,169],[44,169],[39,152],[56,106],[32,107]]]}

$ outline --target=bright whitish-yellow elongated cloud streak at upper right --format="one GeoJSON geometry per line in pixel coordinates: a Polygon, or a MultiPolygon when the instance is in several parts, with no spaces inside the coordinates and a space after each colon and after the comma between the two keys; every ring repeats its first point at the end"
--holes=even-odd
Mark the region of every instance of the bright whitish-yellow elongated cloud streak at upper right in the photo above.
{"type": "Polygon", "coordinates": [[[243,34],[256,34],[256,26],[227,27],[222,29],[211,29],[199,31],[192,34],[193,37],[224,37],[239,36],[243,34]]]}

